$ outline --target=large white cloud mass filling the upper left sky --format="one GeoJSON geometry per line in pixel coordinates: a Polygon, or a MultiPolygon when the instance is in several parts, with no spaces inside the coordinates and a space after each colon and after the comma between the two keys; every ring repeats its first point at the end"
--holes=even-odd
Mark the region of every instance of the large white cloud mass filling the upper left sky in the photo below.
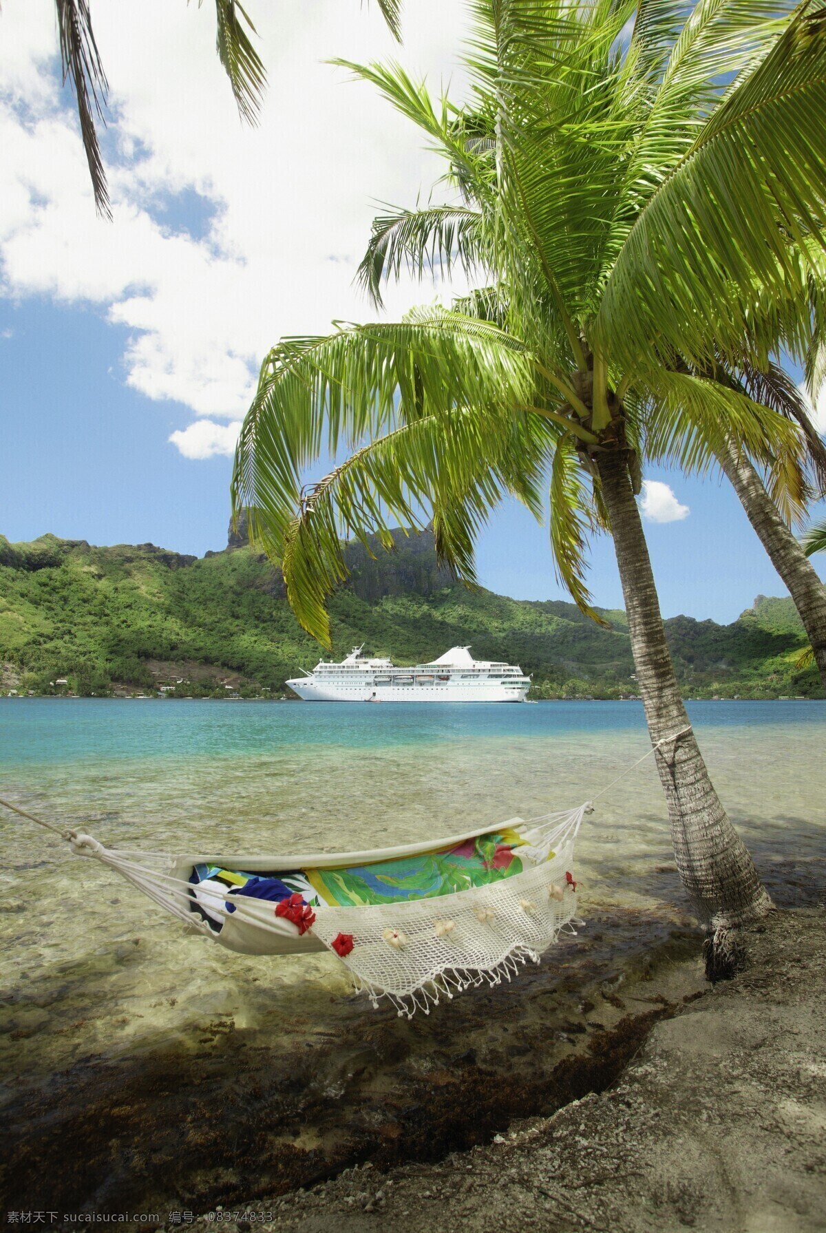
{"type": "MultiPolygon", "coordinates": [[[[53,10],[6,0],[0,15],[0,293],[95,307],[126,330],[125,381],[189,407],[192,429],[243,414],[280,337],[371,319],[353,279],[376,202],[411,205],[441,173],[412,125],[324,60],[401,54],[436,91],[451,75],[461,84],[461,0],[408,5],[401,51],[360,0],[253,9],[270,78],[259,128],[238,121],[206,6],[95,10],[112,88],[112,223],[95,216],[59,88],[53,10]],[[200,196],[203,234],[184,228],[181,194],[200,196]]],[[[390,289],[387,314],[433,295],[390,289]]]]}

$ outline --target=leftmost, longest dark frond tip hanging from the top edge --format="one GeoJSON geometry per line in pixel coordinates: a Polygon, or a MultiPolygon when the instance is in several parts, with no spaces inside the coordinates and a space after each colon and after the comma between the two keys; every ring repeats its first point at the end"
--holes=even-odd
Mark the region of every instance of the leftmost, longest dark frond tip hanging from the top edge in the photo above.
{"type": "Polygon", "coordinates": [[[95,207],[99,215],[111,219],[112,207],[108,200],[106,171],[95,127],[95,113],[99,120],[105,122],[104,107],[108,83],[91,27],[89,0],[55,0],[55,4],[63,80],[64,83],[67,78],[72,80],[78,100],[80,137],[89,164],[95,207]]]}

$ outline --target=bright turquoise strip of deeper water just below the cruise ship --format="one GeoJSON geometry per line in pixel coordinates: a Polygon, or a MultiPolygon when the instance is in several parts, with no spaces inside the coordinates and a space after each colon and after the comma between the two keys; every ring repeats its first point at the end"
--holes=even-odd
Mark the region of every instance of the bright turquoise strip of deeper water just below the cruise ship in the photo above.
{"type": "MultiPolygon", "coordinates": [[[[688,710],[698,729],[711,731],[826,725],[826,702],[697,702],[689,703],[688,710]]],[[[1,698],[0,767],[100,758],[255,756],[296,746],[375,750],[473,737],[619,732],[645,734],[641,703],[395,703],[378,713],[366,710],[362,703],[1,698]]]]}

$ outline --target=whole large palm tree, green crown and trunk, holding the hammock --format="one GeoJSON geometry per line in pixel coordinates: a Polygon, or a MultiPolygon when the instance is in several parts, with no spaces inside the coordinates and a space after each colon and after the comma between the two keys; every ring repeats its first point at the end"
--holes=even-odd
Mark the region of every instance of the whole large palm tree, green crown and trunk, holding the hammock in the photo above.
{"type": "Polygon", "coordinates": [[[771,901],[709,779],[679,695],[635,491],[640,459],[703,469],[731,443],[796,449],[789,422],[714,376],[811,337],[822,254],[826,9],[753,0],[476,0],[467,107],[398,67],[358,67],[419,125],[459,200],[377,219],[362,277],[465,265],[452,311],[282,340],[239,438],[233,508],[329,641],[340,533],[431,517],[473,584],[473,536],[513,492],[540,506],[589,608],[591,528],[610,529],[677,864],[722,937],[771,901]],[[724,73],[736,73],[727,89],[724,73]],[[324,448],[349,457],[321,483],[324,448]],[[681,735],[678,735],[681,734],[681,735]]]}

